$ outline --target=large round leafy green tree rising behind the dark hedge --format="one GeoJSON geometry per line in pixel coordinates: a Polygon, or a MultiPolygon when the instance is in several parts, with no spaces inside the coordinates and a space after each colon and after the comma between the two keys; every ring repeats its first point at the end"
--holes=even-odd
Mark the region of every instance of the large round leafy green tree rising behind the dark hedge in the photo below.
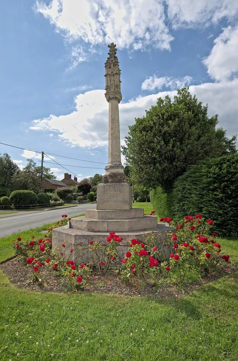
{"type": "Polygon", "coordinates": [[[207,110],[189,88],[182,88],[173,101],[159,98],[143,118],[136,118],[123,147],[133,182],[168,192],[189,165],[237,152],[236,136],[228,139],[225,130],[216,129],[218,116],[209,117],[207,110]]]}

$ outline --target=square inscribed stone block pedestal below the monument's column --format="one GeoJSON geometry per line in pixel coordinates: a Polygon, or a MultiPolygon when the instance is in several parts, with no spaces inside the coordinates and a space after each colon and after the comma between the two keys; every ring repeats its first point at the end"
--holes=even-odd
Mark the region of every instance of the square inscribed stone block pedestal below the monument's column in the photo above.
{"type": "Polygon", "coordinates": [[[97,186],[97,209],[131,209],[132,193],[128,183],[100,183],[97,186]]]}

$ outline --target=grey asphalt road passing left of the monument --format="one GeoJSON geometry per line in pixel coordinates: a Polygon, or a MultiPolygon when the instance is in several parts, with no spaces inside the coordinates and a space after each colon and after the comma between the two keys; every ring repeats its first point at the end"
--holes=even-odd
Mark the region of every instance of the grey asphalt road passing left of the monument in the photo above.
{"type": "Polygon", "coordinates": [[[78,216],[84,213],[85,209],[96,209],[96,204],[81,204],[76,207],[29,212],[0,218],[0,238],[56,222],[61,219],[62,214],[67,214],[68,217],[78,216]]]}

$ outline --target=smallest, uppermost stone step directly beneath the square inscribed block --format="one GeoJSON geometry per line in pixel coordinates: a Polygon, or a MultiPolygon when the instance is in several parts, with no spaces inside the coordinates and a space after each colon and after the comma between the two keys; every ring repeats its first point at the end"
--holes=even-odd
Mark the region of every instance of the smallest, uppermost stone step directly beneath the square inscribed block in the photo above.
{"type": "Polygon", "coordinates": [[[131,219],[143,218],[143,208],[132,209],[86,209],[85,217],[92,219],[131,219]]]}

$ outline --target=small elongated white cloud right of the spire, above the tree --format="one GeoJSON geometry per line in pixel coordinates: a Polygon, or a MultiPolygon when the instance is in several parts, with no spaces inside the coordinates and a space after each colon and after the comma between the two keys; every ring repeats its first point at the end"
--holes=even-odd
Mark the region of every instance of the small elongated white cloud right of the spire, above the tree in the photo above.
{"type": "Polygon", "coordinates": [[[192,77],[186,75],[183,78],[171,78],[171,77],[161,77],[158,78],[155,74],[149,78],[146,78],[141,85],[142,90],[155,90],[161,89],[163,86],[170,88],[171,90],[177,90],[179,88],[188,86],[191,84],[192,77]]]}

